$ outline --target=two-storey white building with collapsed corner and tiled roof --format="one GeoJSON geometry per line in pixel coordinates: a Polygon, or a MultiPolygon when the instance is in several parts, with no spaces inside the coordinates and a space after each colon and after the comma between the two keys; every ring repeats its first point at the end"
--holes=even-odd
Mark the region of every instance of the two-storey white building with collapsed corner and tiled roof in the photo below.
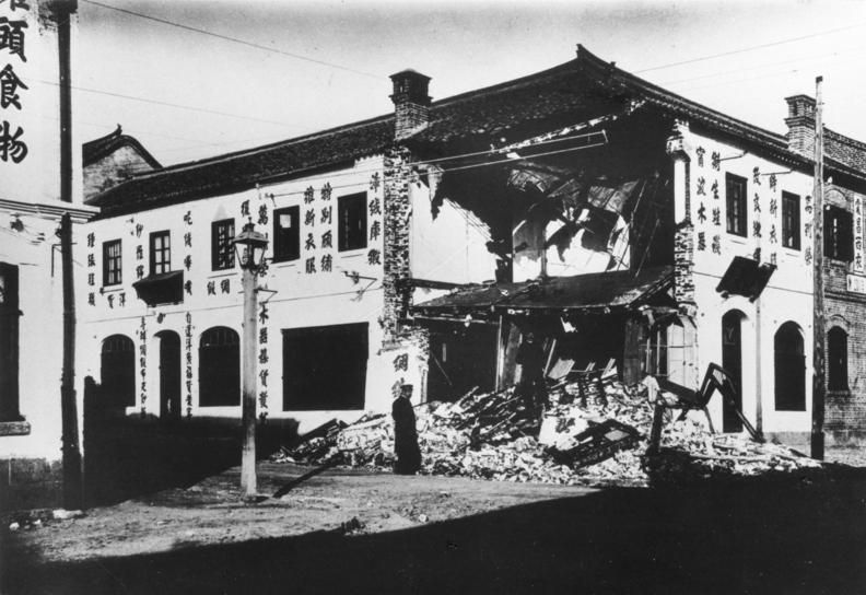
{"type": "MultiPolygon", "coordinates": [[[[91,200],[85,373],[118,406],[239,417],[230,241],[251,221],[270,242],[257,345],[268,419],[386,410],[400,382],[421,399],[507,386],[533,330],[551,369],[612,360],[627,382],[694,387],[719,363],[761,431],[809,430],[814,180],[793,135],[583,47],[436,102],[421,73],[391,80],[394,114],[156,168],[91,200]]],[[[844,192],[866,187],[844,160],[827,171],[844,192]]],[[[831,236],[856,266],[862,237],[831,236]]],[[[846,320],[847,338],[859,323],[846,320]]],[[[710,412],[741,429],[721,400],[710,412]]]]}

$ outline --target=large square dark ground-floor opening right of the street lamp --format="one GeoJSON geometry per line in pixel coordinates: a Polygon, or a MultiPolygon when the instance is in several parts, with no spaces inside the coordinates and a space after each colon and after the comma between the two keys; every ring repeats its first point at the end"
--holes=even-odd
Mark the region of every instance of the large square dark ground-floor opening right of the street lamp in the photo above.
{"type": "Polygon", "coordinates": [[[364,408],[366,323],[284,329],[283,410],[364,408]]]}

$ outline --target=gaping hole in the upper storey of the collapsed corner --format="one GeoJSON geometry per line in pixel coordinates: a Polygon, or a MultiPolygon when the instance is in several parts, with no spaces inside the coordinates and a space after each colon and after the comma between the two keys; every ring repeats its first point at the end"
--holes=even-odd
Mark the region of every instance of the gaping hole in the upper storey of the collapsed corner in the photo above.
{"type": "Polygon", "coordinates": [[[485,223],[500,282],[670,264],[670,125],[639,110],[571,138],[554,137],[555,144],[445,163],[434,217],[447,199],[485,223]],[[587,145],[593,133],[604,142],[587,145]]]}

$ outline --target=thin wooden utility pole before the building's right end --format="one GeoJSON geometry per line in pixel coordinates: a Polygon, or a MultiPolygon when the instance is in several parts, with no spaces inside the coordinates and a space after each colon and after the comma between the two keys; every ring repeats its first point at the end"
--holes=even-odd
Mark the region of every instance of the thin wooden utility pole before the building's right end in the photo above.
{"type": "Polygon", "coordinates": [[[812,424],[811,456],[823,458],[824,419],[824,315],[823,315],[823,121],[821,81],[815,79],[815,211],[812,214],[812,424]]]}

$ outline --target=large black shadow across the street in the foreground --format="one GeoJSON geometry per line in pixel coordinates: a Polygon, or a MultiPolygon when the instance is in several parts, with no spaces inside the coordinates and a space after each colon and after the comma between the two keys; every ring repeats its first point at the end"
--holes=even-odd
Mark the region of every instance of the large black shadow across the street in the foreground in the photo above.
{"type": "Polygon", "coordinates": [[[15,564],[4,586],[51,594],[862,593],[864,498],[866,475],[854,470],[609,489],[393,533],[15,564]]]}

